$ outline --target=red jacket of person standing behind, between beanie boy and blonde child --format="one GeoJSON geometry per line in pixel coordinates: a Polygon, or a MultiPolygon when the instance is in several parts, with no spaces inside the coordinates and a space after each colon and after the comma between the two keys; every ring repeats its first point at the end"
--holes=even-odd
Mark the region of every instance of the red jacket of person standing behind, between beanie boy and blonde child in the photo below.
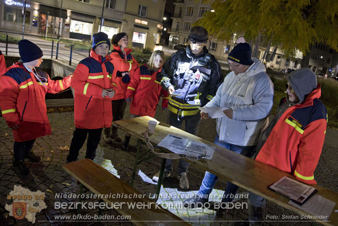
{"type": "Polygon", "coordinates": [[[128,83],[122,81],[122,77],[117,77],[117,72],[130,72],[130,78],[132,78],[135,70],[139,67],[139,64],[131,54],[131,49],[125,49],[125,54],[121,51],[119,46],[114,46],[113,51],[110,53],[111,63],[114,65],[114,73],[112,76],[113,82],[117,84],[117,91],[112,100],[126,99],[126,91],[128,83]]]}

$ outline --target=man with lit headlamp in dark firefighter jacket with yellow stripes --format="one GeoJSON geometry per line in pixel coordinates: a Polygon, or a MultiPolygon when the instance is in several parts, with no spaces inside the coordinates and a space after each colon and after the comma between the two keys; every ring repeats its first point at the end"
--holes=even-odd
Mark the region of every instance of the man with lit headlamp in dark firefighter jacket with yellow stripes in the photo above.
{"type": "MultiPolygon", "coordinates": [[[[202,26],[194,26],[189,34],[189,46],[170,56],[162,68],[158,80],[170,96],[167,123],[197,135],[201,116],[198,107],[204,106],[216,94],[223,78],[221,66],[206,48],[208,32],[202,26]]],[[[172,160],[167,159],[164,178],[170,176],[172,160]]],[[[179,187],[189,188],[187,171],[189,163],[180,159],[178,164],[179,187]]],[[[158,181],[160,173],[153,176],[158,181]]]]}

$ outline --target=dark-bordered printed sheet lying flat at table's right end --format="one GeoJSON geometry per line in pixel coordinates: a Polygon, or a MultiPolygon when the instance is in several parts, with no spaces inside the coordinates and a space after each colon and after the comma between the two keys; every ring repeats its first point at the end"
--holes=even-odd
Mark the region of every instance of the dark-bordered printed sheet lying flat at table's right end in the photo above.
{"type": "Polygon", "coordinates": [[[291,201],[302,205],[317,192],[317,189],[289,177],[274,182],[269,189],[288,197],[291,201]]]}

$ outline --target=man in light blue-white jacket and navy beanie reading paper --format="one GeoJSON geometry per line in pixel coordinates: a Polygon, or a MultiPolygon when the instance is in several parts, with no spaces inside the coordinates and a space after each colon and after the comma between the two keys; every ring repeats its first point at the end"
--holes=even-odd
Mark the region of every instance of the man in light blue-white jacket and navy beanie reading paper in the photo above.
{"type": "MultiPolygon", "coordinates": [[[[258,59],[251,59],[248,43],[237,44],[228,55],[230,72],[217,90],[216,96],[205,107],[226,107],[225,116],[217,119],[217,136],[214,143],[238,154],[251,157],[259,135],[266,124],[273,104],[273,84],[258,59]]],[[[203,119],[208,114],[201,111],[203,119]]],[[[201,207],[218,177],[205,172],[196,196],[183,202],[186,208],[201,207]]],[[[238,186],[228,182],[218,216],[226,214],[226,203],[232,202],[238,186]]]]}

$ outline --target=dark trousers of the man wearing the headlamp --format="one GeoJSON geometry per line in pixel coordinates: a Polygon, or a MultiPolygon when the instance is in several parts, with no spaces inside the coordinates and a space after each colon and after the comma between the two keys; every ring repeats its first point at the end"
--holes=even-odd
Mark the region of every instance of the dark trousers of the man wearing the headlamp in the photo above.
{"type": "MultiPolygon", "coordinates": [[[[200,126],[200,121],[201,121],[200,114],[181,117],[181,116],[177,116],[176,114],[168,110],[167,123],[169,125],[174,126],[176,128],[180,128],[182,126],[183,121],[186,122],[185,131],[193,135],[197,135],[198,128],[200,126]]],[[[190,165],[189,162],[186,162],[185,160],[180,159],[178,163],[177,174],[181,175],[181,174],[187,173],[189,165],[190,165]]],[[[172,159],[167,159],[164,170],[167,173],[172,171],[172,159]]]]}

